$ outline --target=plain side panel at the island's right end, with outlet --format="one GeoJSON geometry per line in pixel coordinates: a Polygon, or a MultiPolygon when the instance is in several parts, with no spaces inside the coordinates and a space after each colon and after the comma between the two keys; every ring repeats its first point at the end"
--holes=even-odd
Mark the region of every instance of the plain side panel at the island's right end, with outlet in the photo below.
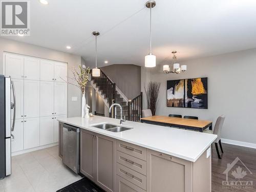
{"type": "Polygon", "coordinates": [[[194,192],[211,191],[211,153],[207,158],[207,150],[193,163],[194,192]]]}

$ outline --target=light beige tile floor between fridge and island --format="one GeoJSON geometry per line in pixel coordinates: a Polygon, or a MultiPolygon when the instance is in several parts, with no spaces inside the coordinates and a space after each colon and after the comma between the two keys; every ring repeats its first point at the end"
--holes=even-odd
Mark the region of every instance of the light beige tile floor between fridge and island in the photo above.
{"type": "Polygon", "coordinates": [[[51,192],[79,179],[62,164],[54,146],[12,157],[12,175],[0,180],[0,192],[51,192]]]}

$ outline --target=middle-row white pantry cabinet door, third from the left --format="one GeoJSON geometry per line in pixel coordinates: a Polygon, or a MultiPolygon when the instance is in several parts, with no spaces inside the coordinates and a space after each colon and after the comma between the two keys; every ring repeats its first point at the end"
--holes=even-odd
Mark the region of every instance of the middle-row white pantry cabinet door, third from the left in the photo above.
{"type": "Polygon", "coordinates": [[[40,81],[40,116],[54,114],[54,82],[40,81]]]}

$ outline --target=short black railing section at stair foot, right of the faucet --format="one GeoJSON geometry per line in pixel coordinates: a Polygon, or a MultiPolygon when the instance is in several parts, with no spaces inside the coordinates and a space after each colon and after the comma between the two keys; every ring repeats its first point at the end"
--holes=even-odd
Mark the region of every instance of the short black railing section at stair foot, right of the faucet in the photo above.
{"type": "Polygon", "coordinates": [[[128,120],[140,121],[142,117],[142,92],[133,100],[128,101],[128,120]]]}

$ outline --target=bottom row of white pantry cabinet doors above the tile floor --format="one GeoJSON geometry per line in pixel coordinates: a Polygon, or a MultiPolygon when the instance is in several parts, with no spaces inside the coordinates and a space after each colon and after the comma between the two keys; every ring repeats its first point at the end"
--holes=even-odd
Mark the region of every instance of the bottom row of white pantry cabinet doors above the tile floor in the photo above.
{"type": "Polygon", "coordinates": [[[16,119],[12,134],[12,152],[58,142],[57,118],[66,115],[16,119]]]}

